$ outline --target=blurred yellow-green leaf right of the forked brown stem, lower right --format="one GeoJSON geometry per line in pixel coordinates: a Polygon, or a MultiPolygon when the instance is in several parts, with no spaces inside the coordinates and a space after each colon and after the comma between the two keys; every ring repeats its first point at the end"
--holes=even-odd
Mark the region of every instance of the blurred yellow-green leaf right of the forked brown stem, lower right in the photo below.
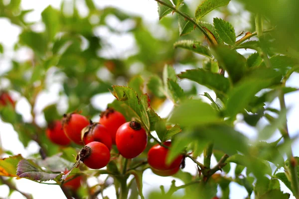
{"type": "Polygon", "coordinates": [[[247,167],[248,172],[252,172],[257,178],[263,178],[265,174],[272,175],[272,169],[267,161],[252,156],[236,154],[229,157],[226,162],[234,162],[247,167]]]}

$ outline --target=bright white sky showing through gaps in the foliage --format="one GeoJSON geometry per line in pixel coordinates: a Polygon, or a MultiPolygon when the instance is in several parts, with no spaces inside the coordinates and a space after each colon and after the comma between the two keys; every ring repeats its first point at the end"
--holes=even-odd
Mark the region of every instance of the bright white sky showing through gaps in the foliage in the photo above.
{"type": "MultiPolygon", "coordinates": [[[[152,23],[157,23],[158,22],[158,15],[157,15],[157,5],[156,2],[153,0],[95,0],[96,4],[98,7],[103,8],[105,6],[114,6],[121,8],[127,12],[130,13],[135,13],[137,15],[141,15],[149,24],[152,23]]],[[[193,3],[198,3],[197,1],[195,2],[194,0],[186,0],[188,2],[193,2],[193,3]]],[[[85,7],[84,3],[82,3],[83,0],[78,0],[79,3],[79,11],[82,15],[85,15],[87,13],[87,8],[85,7]]],[[[23,9],[31,9],[33,8],[34,11],[29,13],[27,15],[27,19],[30,21],[40,21],[40,13],[42,10],[47,7],[49,4],[51,4],[53,7],[59,8],[61,0],[51,0],[51,1],[46,1],[46,0],[22,0],[21,5],[23,9]]],[[[196,6],[196,4],[194,4],[196,6]]],[[[233,1],[229,4],[229,8],[233,11],[238,10],[238,5],[233,1]]],[[[195,8],[194,8],[195,9],[195,8]]],[[[212,14],[217,14],[217,12],[213,12],[212,14]]],[[[242,17],[240,17],[238,22],[242,22],[241,24],[243,27],[240,27],[238,24],[237,27],[239,29],[236,29],[236,33],[243,29],[246,29],[248,27],[247,21],[248,13],[244,12],[242,17]]],[[[209,17],[209,20],[212,20],[212,16],[209,17]]],[[[111,19],[109,21],[111,24],[117,25],[118,22],[111,19]]],[[[232,21],[231,21],[232,22],[232,21]]],[[[26,49],[21,49],[16,53],[13,53],[13,45],[15,42],[17,42],[17,37],[18,34],[20,33],[20,29],[12,25],[7,19],[0,18],[0,43],[4,46],[4,55],[0,55],[0,74],[3,73],[4,71],[8,70],[10,68],[9,60],[11,58],[17,58],[18,60],[26,60],[28,57],[30,57],[30,54],[28,54],[28,51],[26,49]]],[[[37,26],[37,29],[43,28],[42,25],[37,26]]],[[[101,36],[107,38],[107,42],[111,43],[112,46],[121,48],[119,53],[125,52],[127,49],[131,49],[132,46],[134,46],[134,40],[132,39],[132,35],[108,35],[109,33],[104,31],[99,33],[101,36]]],[[[119,50],[119,49],[118,49],[119,50]]],[[[249,52],[249,51],[247,51],[249,52]]],[[[240,53],[247,53],[246,51],[241,51],[240,53]]],[[[180,71],[186,70],[188,67],[186,66],[176,66],[176,73],[179,73],[180,71]]],[[[186,82],[181,82],[182,84],[186,84],[186,82]]],[[[4,81],[0,81],[0,88],[5,87],[4,81]]],[[[183,85],[182,85],[183,86],[183,85]]],[[[290,78],[290,80],[287,82],[287,86],[289,87],[295,87],[299,88],[299,74],[293,74],[290,78]]],[[[43,92],[41,95],[38,97],[38,105],[37,107],[34,108],[36,112],[39,112],[43,107],[46,105],[57,102],[59,101],[60,104],[65,101],[65,99],[59,99],[58,97],[58,92],[61,89],[61,86],[56,83],[52,84],[47,92],[43,92]]],[[[209,90],[200,87],[200,94],[203,92],[206,92],[209,90]]],[[[210,94],[212,94],[210,92],[210,94]]],[[[215,97],[215,95],[211,95],[212,97],[215,97]]],[[[16,111],[22,114],[23,118],[26,121],[30,121],[32,119],[30,115],[30,107],[27,103],[26,100],[21,99],[18,95],[13,95],[13,97],[17,100],[16,104],[16,111]]],[[[93,104],[97,104],[98,108],[104,109],[109,102],[114,100],[114,97],[109,93],[109,94],[103,94],[103,95],[98,95],[94,97],[91,102],[93,104]],[[97,101],[101,101],[101,103],[97,103],[97,101]]],[[[294,92],[292,94],[286,95],[286,103],[287,107],[291,107],[291,110],[288,114],[288,125],[289,125],[289,131],[290,135],[292,137],[298,135],[299,132],[299,125],[298,125],[298,118],[299,118],[299,92],[294,92]]],[[[278,108],[279,109],[279,101],[276,99],[274,100],[271,104],[272,107],[278,108]]],[[[169,101],[166,101],[161,109],[158,111],[158,114],[163,117],[167,116],[167,114],[171,111],[172,109],[172,104],[169,101]]],[[[37,122],[39,124],[44,124],[45,120],[43,115],[39,115],[37,118],[37,122]]],[[[266,124],[265,120],[262,120],[260,122],[260,125],[263,126],[266,124]]],[[[246,134],[248,137],[255,139],[257,137],[257,132],[255,129],[249,127],[247,124],[243,122],[239,122],[236,124],[236,129],[243,132],[246,134]]],[[[277,132],[275,136],[271,140],[278,139],[280,137],[280,134],[277,132]]],[[[33,141],[30,142],[29,146],[24,149],[22,144],[18,141],[18,137],[16,132],[13,130],[12,126],[10,124],[4,123],[0,121],[0,138],[1,138],[1,143],[2,147],[5,150],[10,150],[14,154],[22,154],[24,157],[27,157],[29,154],[36,153],[39,149],[38,145],[34,143],[33,141]]],[[[293,145],[293,152],[295,156],[299,156],[299,145],[298,141],[294,143],[293,145]]],[[[202,160],[202,159],[199,159],[202,160]]],[[[216,161],[213,159],[212,164],[215,164],[216,161]]],[[[234,165],[233,165],[234,167],[234,165]]],[[[192,161],[189,159],[186,159],[186,168],[184,171],[188,171],[191,174],[196,173],[196,167],[193,164],[192,161]]],[[[232,169],[233,171],[233,169],[232,169]]],[[[164,185],[166,190],[169,188],[171,184],[172,177],[159,177],[156,175],[153,175],[150,170],[146,170],[144,173],[144,194],[147,196],[147,192],[152,190],[152,189],[159,189],[160,185],[164,185]]],[[[63,199],[65,198],[62,191],[58,186],[54,185],[42,185],[38,184],[26,179],[21,179],[21,180],[15,180],[16,186],[20,191],[30,193],[33,195],[34,199],[52,199],[52,198],[57,198],[57,199],[63,199]]],[[[91,179],[89,181],[91,185],[94,185],[96,183],[95,179],[91,179]]],[[[180,180],[176,181],[176,185],[182,185],[182,182],[180,180]]],[[[285,192],[290,193],[290,190],[288,190],[283,184],[282,188],[285,192]]],[[[180,191],[182,192],[182,190],[180,191]]],[[[0,197],[6,198],[8,195],[8,188],[3,185],[0,186],[0,197]]],[[[252,198],[254,198],[252,194],[252,198]]],[[[115,199],[115,192],[114,188],[111,187],[104,191],[104,196],[108,196],[110,199],[115,199]]],[[[247,196],[247,192],[245,188],[242,188],[236,184],[231,183],[231,194],[230,198],[231,199],[241,199],[245,198],[247,196]]],[[[11,197],[11,199],[21,199],[24,198],[22,195],[20,195],[17,192],[14,192],[11,197]]]]}

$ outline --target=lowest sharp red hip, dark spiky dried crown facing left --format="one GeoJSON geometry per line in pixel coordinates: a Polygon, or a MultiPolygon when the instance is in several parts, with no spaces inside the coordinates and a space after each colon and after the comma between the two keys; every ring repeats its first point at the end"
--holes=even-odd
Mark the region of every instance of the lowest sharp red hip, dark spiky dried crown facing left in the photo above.
{"type": "Polygon", "coordinates": [[[79,158],[87,167],[101,169],[109,163],[110,151],[101,142],[90,142],[81,149],[79,158]]]}

